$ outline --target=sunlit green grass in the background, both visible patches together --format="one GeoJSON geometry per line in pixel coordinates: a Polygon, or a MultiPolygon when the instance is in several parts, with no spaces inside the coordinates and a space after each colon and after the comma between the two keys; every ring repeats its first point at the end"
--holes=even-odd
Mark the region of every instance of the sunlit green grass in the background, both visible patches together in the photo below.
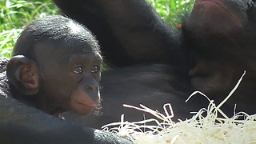
{"type": "MultiPolygon", "coordinates": [[[[178,24],[190,12],[194,0],[148,0],[170,25],[178,24]]],[[[0,0],[0,56],[10,58],[18,34],[34,19],[60,14],[50,0],[0,0]]]]}

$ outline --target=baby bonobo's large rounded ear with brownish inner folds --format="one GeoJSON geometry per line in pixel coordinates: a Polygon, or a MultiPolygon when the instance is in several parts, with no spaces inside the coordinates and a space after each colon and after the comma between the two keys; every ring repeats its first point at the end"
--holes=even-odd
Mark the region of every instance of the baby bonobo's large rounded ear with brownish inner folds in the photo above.
{"type": "Polygon", "coordinates": [[[9,81],[22,94],[33,95],[38,93],[38,68],[30,58],[23,55],[14,56],[7,64],[6,74],[9,81]]]}

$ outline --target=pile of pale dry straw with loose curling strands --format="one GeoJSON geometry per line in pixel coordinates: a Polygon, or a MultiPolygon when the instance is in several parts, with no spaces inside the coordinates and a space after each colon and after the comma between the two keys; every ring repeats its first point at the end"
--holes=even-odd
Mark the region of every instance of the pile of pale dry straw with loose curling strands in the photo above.
{"type": "MultiPolygon", "coordinates": [[[[238,84],[218,106],[208,98],[209,106],[199,110],[186,121],[172,121],[171,118],[174,115],[170,104],[163,106],[166,115],[159,114],[157,111],[150,110],[150,108],[142,105],[142,108],[124,105],[146,111],[159,120],[147,119],[141,122],[125,122],[122,115],[121,122],[102,126],[102,129],[114,132],[119,136],[129,137],[137,144],[256,144],[256,114],[248,115],[240,112],[234,114],[232,118],[228,118],[220,109],[241,81],[242,78],[239,79],[238,84]],[[223,118],[218,118],[218,114],[222,114],[223,118]],[[239,119],[242,117],[243,120],[238,120],[238,117],[239,119]],[[147,126],[147,122],[155,122],[156,124],[147,126]]],[[[194,92],[194,94],[196,93],[200,92],[194,92]]],[[[194,94],[191,94],[187,100],[194,94]]],[[[205,94],[202,95],[206,97],[205,94]]]]}

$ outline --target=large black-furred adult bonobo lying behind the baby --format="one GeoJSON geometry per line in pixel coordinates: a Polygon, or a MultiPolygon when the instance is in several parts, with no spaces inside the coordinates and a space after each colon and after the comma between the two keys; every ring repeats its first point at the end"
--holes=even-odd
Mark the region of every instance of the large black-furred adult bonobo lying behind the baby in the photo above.
{"type": "MultiPolygon", "coordinates": [[[[190,16],[182,23],[181,30],[167,26],[145,0],[54,2],[64,14],[92,30],[102,46],[103,54],[112,65],[126,67],[120,70],[120,75],[126,76],[123,79],[111,71],[102,74],[102,121],[104,117],[118,121],[114,114],[126,114],[121,108],[122,103],[146,103],[146,106],[161,110],[159,99],[162,103],[174,104],[174,98],[183,101],[193,90],[202,91],[218,103],[229,94],[243,70],[246,70],[246,76],[235,94],[226,102],[226,110],[233,111],[237,103],[237,111],[255,113],[254,1],[197,0],[190,16]],[[155,62],[168,66],[134,66],[145,62],[152,66],[155,62]],[[140,73],[142,69],[145,71],[140,73]],[[161,70],[162,77],[154,77],[154,74],[161,76],[161,70]],[[132,75],[134,81],[130,82],[128,78],[132,78],[132,75]],[[133,87],[134,83],[138,85],[133,87]],[[185,83],[186,87],[179,86],[180,83],[185,83]],[[151,88],[151,91],[143,89],[145,87],[151,88]],[[151,92],[150,98],[148,91],[151,92]],[[133,95],[130,92],[134,92],[133,95]],[[162,93],[170,96],[159,96],[162,93]],[[108,105],[108,102],[111,104],[108,105]]],[[[176,109],[186,106],[184,102],[176,109]]],[[[194,108],[185,109],[190,110],[194,108]]],[[[182,114],[177,117],[180,116],[186,117],[182,114]]]]}

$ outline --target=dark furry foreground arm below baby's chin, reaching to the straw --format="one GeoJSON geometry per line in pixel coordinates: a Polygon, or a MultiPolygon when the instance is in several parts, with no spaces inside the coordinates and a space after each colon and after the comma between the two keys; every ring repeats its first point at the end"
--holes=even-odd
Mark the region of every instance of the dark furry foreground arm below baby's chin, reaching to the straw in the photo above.
{"type": "Polygon", "coordinates": [[[65,121],[26,106],[13,98],[0,96],[0,143],[127,143],[114,134],[65,121]]]}

